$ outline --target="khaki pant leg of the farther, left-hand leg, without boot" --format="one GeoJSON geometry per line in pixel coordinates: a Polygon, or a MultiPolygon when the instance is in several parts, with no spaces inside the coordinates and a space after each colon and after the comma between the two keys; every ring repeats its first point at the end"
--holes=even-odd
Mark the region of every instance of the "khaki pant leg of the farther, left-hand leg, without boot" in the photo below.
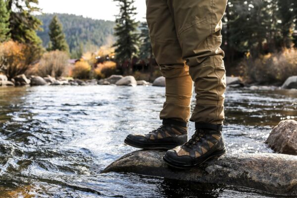
{"type": "Polygon", "coordinates": [[[147,21],[153,53],[166,79],[166,101],[160,119],[188,121],[193,81],[189,66],[182,59],[167,0],[147,0],[147,21]]]}

